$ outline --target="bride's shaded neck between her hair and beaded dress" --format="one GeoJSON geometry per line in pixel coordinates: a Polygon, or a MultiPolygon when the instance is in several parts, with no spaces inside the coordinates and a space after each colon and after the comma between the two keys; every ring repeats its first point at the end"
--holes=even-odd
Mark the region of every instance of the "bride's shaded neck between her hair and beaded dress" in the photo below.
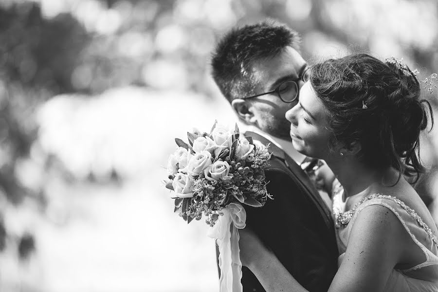
{"type": "Polygon", "coordinates": [[[382,173],[366,167],[353,159],[326,161],[336,178],[344,187],[346,197],[351,197],[380,182],[382,173]]]}

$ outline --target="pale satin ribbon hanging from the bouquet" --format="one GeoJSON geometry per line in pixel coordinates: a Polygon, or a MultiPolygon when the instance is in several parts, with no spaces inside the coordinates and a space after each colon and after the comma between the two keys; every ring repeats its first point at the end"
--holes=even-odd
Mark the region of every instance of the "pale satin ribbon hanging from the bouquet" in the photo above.
{"type": "Polygon", "coordinates": [[[239,233],[245,228],[246,212],[242,205],[230,203],[223,210],[207,236],[216,238],[219,246],[219,292],[242,292],[242,263],[240,262],[239,233]]]}

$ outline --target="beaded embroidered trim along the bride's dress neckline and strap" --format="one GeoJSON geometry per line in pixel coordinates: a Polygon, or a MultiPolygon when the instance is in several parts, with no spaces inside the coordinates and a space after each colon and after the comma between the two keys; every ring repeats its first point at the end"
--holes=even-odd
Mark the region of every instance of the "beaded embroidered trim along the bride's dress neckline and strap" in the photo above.
{"type": "MultiPolygon", "coordinates": [[[[336,198],[336,197],[338,197],[338,196],[335,196],[334,199],[339,200],[339,198],[336,198]]],[[[410,208],[403,201],[401,201],[400,199],[398,199],[396,197],[386,196],[386,195],[382,195],[382,194],[373,194],[373,195],[366,196],[361,201],[358,201],[351,210],[348,210],[347,212],[344,212],[344,213],[342,213],[341,210],[337,207],[338,204],[333,203],[333,214],[335,216],[336,228],[339,229],[341,227],[347,226],[348,222],[353,217],[353,214],[356,211],[356,209],[359,207],[359,205],[361,205],[365,201],[369,201],[369,200],[376,199],[376,198],[377,199],[390,199],[390,200],[398,203],[412,218],[414,218],[418,222],[418,224],[424,229],[424,231],[426,231],[426,233],[429,235],[429,237],[432,239],[432,241],[438,247],[438,238],[432,233],[432,230],[429,228],[429,226],[427,226],[426,223],[424,223],[424,221],[415,212],[414,209],[410,208]]]]}

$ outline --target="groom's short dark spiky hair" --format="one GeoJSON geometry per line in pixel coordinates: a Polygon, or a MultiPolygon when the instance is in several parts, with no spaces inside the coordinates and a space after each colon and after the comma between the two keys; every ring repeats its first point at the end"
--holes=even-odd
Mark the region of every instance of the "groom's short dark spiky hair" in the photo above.
{"type": "Polygon", "coordinates": [[[287,46],[299,50],[300,36],[275,20],[234,28],[226,33],[212,54],[212,75],[231,102],[254,93],[254,62],[273,57],[287,46]]]}

